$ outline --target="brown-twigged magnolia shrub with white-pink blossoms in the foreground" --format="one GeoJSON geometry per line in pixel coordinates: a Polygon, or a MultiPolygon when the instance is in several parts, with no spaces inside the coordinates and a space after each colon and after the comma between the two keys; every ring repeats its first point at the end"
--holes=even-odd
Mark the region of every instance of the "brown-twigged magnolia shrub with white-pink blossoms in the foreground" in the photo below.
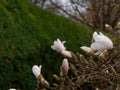
{"type": "Polygon", "coordinates": [[[86,57],[67,50],[65,41],[55,40],[51,48],[64,56],[60,75],[53,74],[56,82],[50,85],[41,73],[42,66],[34,65],[32,72],[38,82],[35,90],[83,90],[83,85],[92,90],[120,90],[118,45],[101,32],[94,32],[92,37],[90,46],[80,47],[86,57]]]}

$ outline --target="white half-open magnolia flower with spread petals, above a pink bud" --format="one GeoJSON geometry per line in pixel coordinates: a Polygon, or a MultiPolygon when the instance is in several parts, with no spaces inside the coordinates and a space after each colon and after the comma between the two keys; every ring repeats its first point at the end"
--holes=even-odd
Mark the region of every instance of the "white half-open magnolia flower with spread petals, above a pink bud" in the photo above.
{"type": "Polygon", "coordinates": [[[58,51],[58,52],[64,51],[65,50],[64,43],[65,43],[65,41],[61,42],[59,39],[57,39],[56,41],[54,41],[54,43],[51,46],[51,48],[53,50],[58,51]]]}

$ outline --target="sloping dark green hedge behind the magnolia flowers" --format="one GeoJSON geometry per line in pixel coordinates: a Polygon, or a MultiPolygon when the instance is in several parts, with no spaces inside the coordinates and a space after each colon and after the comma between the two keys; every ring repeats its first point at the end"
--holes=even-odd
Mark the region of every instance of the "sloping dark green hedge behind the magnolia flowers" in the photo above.
{"type": "Polygon", "coordinates": [[[42,74],[51,83],[64,57],[51,50],[57,38],[67,50],[82,52],[90,45],[93,31],[62,16],[27,2],[0,0],[0,90],[34,90],[33,65],[42,65],[42,74]]]}

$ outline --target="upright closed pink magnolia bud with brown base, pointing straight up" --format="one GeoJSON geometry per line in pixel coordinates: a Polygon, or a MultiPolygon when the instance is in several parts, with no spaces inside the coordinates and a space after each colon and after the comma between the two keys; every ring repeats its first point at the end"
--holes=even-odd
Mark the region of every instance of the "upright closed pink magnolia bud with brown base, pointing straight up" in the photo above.
{"type": "Polygon", "coordinates": [[[64,59],[61,65],[61,75],[65,76],[68,73],[69,63],[67,59],[64,59]]]}

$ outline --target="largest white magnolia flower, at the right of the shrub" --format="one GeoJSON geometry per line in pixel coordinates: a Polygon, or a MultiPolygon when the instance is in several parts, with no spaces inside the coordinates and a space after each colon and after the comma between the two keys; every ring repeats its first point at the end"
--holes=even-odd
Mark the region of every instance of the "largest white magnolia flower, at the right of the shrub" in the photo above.
{"type": "Polygon", "coordinates": [[[113,48],[113,42],[101,32],[99,32],[99,34],[97,32],[94,32],[93,40],[94,42],[91,44],[90,47],[92,50],[97,51],[96,55],[99,54],[103,50],[113,48]]]}

